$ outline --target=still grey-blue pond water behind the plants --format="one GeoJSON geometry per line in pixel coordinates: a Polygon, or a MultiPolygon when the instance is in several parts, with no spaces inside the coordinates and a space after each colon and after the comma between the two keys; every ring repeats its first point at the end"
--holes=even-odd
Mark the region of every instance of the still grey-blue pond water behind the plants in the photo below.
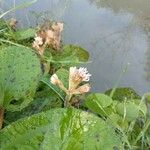
{"type": "MultiPolygon", "coordinates": [[[[22,2],[1,0],[1,10],[22,2]]],[[[118,86],[143,94],[150,91],[149,15],[150,0],[38,0],[8,17],[23,27],[42,19],[63,21],[64,43],[78,44],[91,55],[86,66],[93,91],[113,87],[124,72],[118,86]]]]}

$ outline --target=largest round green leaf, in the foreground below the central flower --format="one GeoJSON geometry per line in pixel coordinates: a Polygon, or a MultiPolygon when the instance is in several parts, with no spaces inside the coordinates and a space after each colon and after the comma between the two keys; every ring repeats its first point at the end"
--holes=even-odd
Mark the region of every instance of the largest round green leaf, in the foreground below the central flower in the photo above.
{"type": "Polygon", "coordinates": [[[123,149],[114,128],[93,114],[53,109],[19,120],[0,131],[3,150],[123,149]]]}

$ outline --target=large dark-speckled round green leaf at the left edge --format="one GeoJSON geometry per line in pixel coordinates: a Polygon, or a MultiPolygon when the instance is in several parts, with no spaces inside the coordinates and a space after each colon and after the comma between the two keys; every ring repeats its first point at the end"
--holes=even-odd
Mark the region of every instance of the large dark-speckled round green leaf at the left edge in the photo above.
{"type": "Polygon", "coordinates": [[[32,49],[0,49],[0,105],[10,111],[26,107],[36,91],[41,65],[32,49]]]}

